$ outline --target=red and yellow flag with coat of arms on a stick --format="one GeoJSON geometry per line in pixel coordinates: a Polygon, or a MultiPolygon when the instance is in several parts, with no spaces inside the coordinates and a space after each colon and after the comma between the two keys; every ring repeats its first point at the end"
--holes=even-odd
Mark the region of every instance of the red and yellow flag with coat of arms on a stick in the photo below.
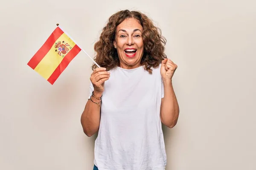
{"type": "Polygon", "coordinates": [[[81,48],[57,27],[29,60],[28,65],[53,85],[80,51],[81,48]]]}

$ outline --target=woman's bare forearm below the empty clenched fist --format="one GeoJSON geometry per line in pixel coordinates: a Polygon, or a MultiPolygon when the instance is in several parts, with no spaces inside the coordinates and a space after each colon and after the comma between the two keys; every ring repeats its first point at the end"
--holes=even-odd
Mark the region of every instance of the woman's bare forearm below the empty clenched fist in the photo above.
{"type": "Polygon", "coordinates": [[[163,81],[164,98],[162,99],[160,117],[164,125],[172,128],[177,124],[179,105],[172,86],[172,80],[163,81]]]}

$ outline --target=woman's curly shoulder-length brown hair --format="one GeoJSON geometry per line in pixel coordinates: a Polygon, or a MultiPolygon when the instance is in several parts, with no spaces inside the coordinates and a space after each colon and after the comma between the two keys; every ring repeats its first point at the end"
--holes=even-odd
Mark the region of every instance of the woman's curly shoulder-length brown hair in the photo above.
{"type": "MultiPolygon", "coordinates": [[[[116,38],[116,27],[127,18],[134,18],[139,21],[143,27],[143,43],[144,51],[140,65],[144,65],[144,69],[152,74],[152,69],[156,68],[163,59],[167,58],[164,54],[164,45],[166,45],[166,38],[161,34],[160,28],[154,26],[153,22],[140,11],[123,10],[116,12],[108,19],[107,25],[103,28],[103,31],[94,45],[95,57],[94,61],[104,67],[107,71],[120,66],[119,57],[114,48],[113,41],[116,38]]],[[[93,64],[92,69],[97,68],[97,65],[93,64]]]]}

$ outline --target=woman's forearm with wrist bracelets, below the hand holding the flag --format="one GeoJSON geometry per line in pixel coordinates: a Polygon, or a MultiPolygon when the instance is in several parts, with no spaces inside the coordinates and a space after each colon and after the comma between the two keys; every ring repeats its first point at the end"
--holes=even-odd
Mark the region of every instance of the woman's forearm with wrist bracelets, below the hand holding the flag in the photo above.
{"type": "MultiPolygon", "coordinates": [[[[96,97],[100,97],[100,94],[94,94],[96,97]]],[[[99,102],[98,99],[92,97],[94,102],[99,102]]],[[[94,133],[99,130],[100,122],[100,106],[96,103],[93,103],[90,99],[87,101],[84,111],[81,115],[81,124],[84,130],[84,133],[87,136],[92,136],[94,133]]]]}

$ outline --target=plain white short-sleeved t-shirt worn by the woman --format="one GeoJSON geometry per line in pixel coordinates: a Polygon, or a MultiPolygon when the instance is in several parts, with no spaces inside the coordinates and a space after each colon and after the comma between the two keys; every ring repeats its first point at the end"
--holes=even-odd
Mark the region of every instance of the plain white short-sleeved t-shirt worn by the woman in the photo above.
{"type": "MultiPolygon", "coordinates": [[[[161,64],[160,64],[161,65],[161,64]]],[[[164,170],[166,150],[160,120],[160,65],[111,69],[102,94],[94,164],[99,170],[164,170]]],[[[93,91],[90,83],[88,99],[93,91]]]]}

